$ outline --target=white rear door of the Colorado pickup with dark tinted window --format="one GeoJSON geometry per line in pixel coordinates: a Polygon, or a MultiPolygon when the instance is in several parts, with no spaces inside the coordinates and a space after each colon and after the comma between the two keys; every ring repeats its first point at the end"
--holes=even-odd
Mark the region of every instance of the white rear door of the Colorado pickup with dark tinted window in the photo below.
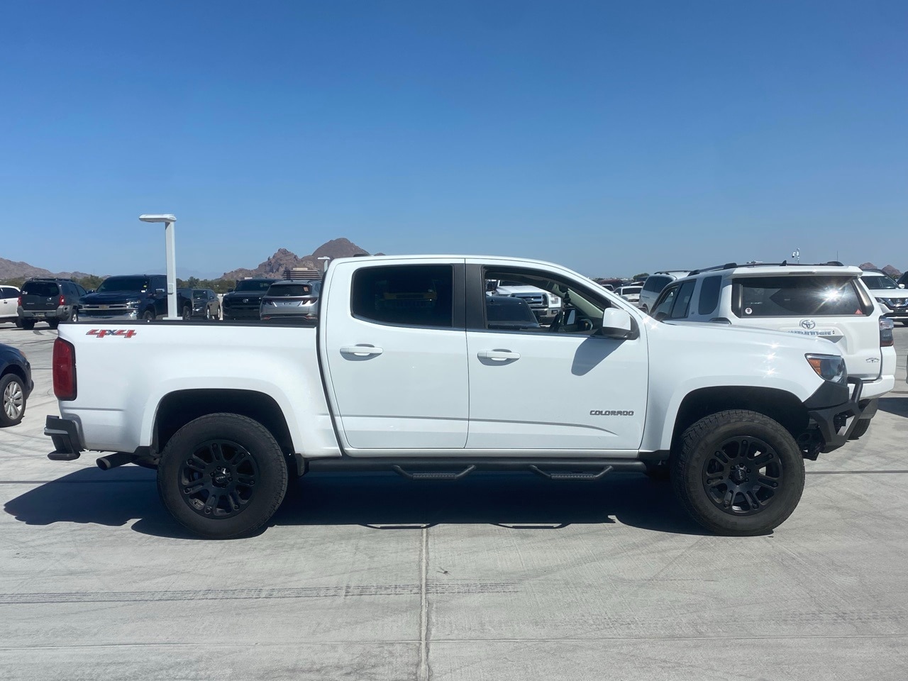
{"type": "Polygon", "coordinates": [[[321,360],[350,455],[463,449],[469,418],[463,271],[463,259],[331,266],[321,360]]]}

